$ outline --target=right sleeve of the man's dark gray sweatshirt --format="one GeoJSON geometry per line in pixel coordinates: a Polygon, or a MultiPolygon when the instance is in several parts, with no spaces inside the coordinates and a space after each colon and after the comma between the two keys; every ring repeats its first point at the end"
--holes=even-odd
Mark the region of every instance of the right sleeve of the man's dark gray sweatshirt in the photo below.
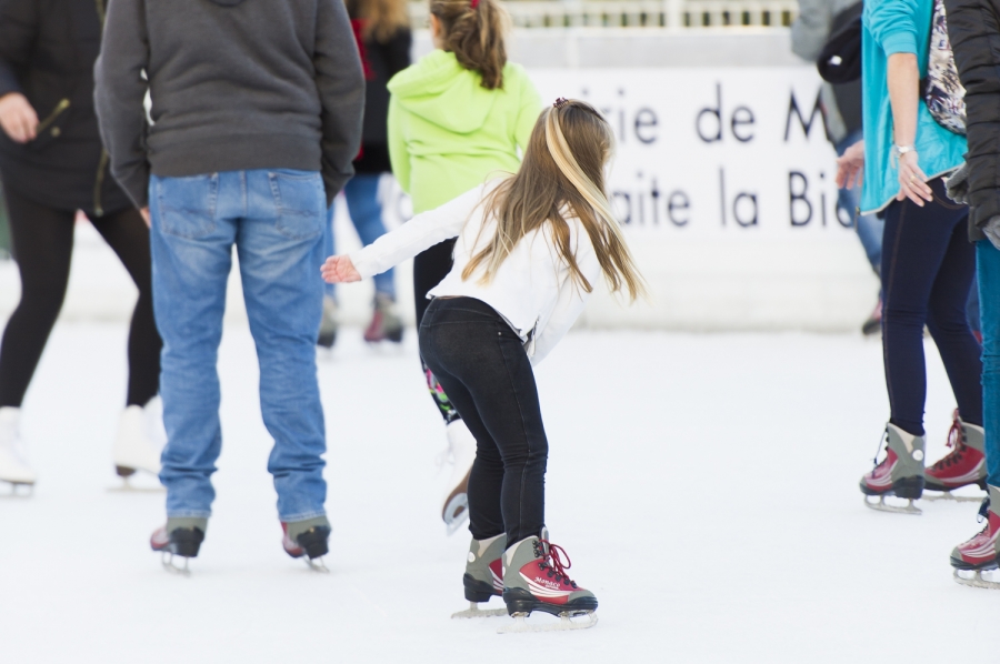
{"type": "Polygon", "coordinates": [[[341,0],[321,0],[316,21],[316,87],[322,103],[322,173],[327,203],[354,174],[361,148],[364,73],[354,33],[341,0]]]}

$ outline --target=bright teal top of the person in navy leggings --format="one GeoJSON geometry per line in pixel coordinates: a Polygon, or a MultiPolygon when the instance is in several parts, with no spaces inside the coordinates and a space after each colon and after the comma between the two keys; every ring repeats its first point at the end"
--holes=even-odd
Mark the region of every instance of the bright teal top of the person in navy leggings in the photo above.
{"type": "MultiPolygon", "coordinates": [[[[861,17],[863,84],[864,189],[861,211],[886,208],[899,193],[899,175],[890,158],[892,109],[886,74],[889,56],[916,53],[920,77],[927,76],[927,50],[933,0],[864,0],[861,17]]],[[[964,161],[966,137],[938,124],[923,99],[917,111],[917,157],[928,178],[947,173],[964,161]]]]}

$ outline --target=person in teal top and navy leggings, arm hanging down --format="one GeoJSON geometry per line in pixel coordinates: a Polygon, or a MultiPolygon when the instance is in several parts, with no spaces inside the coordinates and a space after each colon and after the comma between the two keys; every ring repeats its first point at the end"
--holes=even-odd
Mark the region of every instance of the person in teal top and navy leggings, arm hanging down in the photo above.
{"type": "MultiPolygon", "coordinates": [[[[866,0],[862,14],[864,185],[861,208],[886,218],[882,241],[882,351],[890,417],[886,457],[861,479],[866,495],[909,499],[924,487],[950,491],[984,480],[980,348],[966,319],[976,271],[966,235],[966,205],[944,193],[943,175],[962,164],[966,139],[938,123],[923,99],[929,42],[947,37],[933,0],[866,0]],[[932,26],[934,33],[932,36],[932,26]],[[930,331],[959,405],[960,442],[924,470],[927,372],[923,328],[930,331]],[[973,460],[974,461],[974,460],[973,460]],[[973,471],[969,471],[969,469],[973,471]],[[981,475],[979,476],[978,473],[981,475]]],[[[960,89],[960,87],[958,87],[960,89]]],[[[950,495],[950,494],[949,494],[950,495]]]]}

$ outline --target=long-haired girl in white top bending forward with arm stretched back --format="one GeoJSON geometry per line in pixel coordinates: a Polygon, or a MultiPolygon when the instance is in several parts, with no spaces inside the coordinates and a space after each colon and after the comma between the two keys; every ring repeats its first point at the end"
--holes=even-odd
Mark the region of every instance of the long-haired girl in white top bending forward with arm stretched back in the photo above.
{"type": "Polygon", "coordinates": [[[328,282],[358,281],[457,238],[454,266],[429,293],[420,353],[476,436],[466,597],[502,594],[511,615],[542,611],[567,618],[563,627],[592,625],[568,618],[592,614],[598,602],[569,579],[569,556],[546,530],[548,441],[532,366],[577,320],[599,275],[631,299],[642,292],[604,193],[612,145],[593,108],[560,99],[536,122],[517,175],[322,269],[328,282]],[[492,579],[498,569],[502,586],[492,579]]]}

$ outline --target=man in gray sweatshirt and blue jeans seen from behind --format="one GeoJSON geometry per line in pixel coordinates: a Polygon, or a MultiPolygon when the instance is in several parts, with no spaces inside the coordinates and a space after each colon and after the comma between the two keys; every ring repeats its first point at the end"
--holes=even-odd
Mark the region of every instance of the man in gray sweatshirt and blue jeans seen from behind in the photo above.
{"type": "Polygon", "coordinates": [[[283,546],[322,556],[319,268],[326,209],[352,174],[364,99],[343,2],[111,0],[94,78],[111,172],[152,229],[168,519],[151,545],[193,557],[207,531],[236,247],[283,546]]]}

